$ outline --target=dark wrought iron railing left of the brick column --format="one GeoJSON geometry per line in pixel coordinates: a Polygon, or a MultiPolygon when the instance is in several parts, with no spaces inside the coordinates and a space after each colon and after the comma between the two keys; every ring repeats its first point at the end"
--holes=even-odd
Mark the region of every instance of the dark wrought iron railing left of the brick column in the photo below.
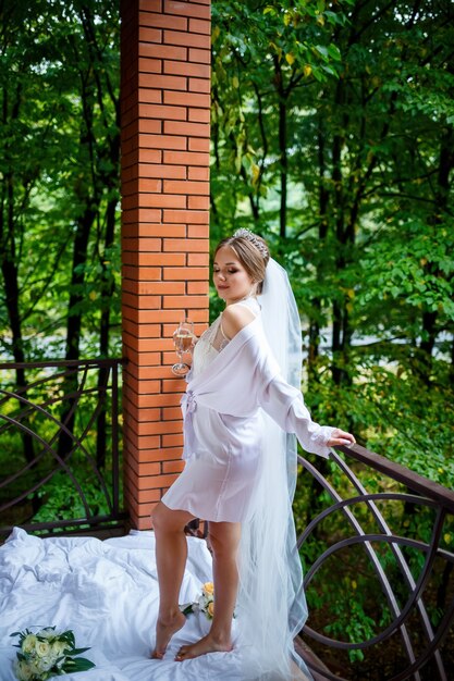
{"type": "Polygon", "coordinates": [[[119,359],[0,363],[0,541],[14,525],[68,534],[124,522],[120,366],[119,359]],[[19,387],[17,370],[26,376],[19,387]]]}

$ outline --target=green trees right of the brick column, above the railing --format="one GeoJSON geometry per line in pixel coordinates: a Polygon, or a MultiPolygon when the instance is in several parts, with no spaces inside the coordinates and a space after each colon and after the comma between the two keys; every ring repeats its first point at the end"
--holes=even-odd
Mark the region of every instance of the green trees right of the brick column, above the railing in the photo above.
{"type": "Polygon", "coordinates": [[[304,319],[308,399],[365,443],[402,424],[392,391],[378,409],[385,375],[408,391],[403,438],[428,392],[452,403],[452,14],[216,4],[213,237],[268,237],[304,319]]]}

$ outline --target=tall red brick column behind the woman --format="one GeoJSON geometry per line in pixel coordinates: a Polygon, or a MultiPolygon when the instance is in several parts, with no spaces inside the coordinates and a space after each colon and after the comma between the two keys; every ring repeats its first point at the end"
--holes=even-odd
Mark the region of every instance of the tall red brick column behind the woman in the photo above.
{"type": "Polygon", "coordinates": [[[182,468],[172,332],[208,321],[210,0],[121,12],[124,485],[148,529],[182,468]]]}

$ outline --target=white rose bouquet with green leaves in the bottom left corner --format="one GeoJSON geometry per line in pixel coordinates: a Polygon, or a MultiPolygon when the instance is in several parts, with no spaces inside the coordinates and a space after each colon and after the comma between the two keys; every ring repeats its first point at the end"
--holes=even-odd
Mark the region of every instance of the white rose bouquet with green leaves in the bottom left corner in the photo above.
{"type": "Polygon", "coordinates": [[[19,636],[17,659],[14,672],[19,681],[46,681],[73,671],[86,671],[95,667],[85,657],[75,657],[89,648],[76,648],[74,633],[69,630],[56,632],[54,627],[45,627],[37,633],[28,629],[15,631],[19,636]]]}

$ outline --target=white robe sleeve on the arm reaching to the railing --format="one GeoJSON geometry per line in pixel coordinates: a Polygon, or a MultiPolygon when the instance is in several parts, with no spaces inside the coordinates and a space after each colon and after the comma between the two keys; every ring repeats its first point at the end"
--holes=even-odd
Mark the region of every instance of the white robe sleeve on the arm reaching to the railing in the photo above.
{"type": "Polygon", "coordinates": [[[295,433],[306,451],[328,458],[327,442],[335,429],[312,421],[300,391],[277,375],[259,393],[259,404],[283,431],[295,433]]]}

